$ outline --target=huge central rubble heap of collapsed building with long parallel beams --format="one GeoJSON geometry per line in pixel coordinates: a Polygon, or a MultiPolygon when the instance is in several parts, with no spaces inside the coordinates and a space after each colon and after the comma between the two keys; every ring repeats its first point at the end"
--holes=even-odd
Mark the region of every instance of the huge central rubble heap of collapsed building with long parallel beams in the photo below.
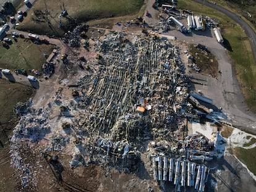
{"type": "Polygon", "coordinates": [[[74,132],[82,158],[74,156],[70,167],[90,159],[132,170],[145,141],[160,142],[150,154],[168,154],[177,145],[186,131],[187,108],[187,77],[177,49],[168,40],[121,32],[96,41],[98,72],[76,83],[83,90],[77,109],[83,109],[80,127],[87,134],[74,132]]]}

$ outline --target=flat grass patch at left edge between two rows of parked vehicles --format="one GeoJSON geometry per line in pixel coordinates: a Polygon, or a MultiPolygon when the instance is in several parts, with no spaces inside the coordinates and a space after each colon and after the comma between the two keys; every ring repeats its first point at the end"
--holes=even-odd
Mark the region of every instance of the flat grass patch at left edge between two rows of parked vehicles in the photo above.
{"type": "Polygon", "coordinates": [[[53,48],[52,44],[34,44],[31,40],[17,38],[17,42],[12,40],[9,49],[0,46],[0,67],[10,70],[41,70],[41,65],[46,61],[43,53],[49,55],[53,48]]]}

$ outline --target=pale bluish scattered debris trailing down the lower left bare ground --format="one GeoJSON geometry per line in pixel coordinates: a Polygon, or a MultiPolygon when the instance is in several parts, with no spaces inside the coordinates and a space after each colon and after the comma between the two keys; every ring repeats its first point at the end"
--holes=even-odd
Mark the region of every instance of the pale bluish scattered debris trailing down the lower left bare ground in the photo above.
{"type": "Polygon", "coordinates": [[[36,171],[34,170],[30,157],[23,154],[23,148],[30,148],[22,144],[35,143],[45,137],[51,128],[49,127],[49,111],[45,108],[33,109],[32,99],[26,103],[19,103],[14,112],[20,116],[19,123],[13,130],[10,144],[11,166],[19,173],[19,183],[21,188],[36,186],[36,171]]]}

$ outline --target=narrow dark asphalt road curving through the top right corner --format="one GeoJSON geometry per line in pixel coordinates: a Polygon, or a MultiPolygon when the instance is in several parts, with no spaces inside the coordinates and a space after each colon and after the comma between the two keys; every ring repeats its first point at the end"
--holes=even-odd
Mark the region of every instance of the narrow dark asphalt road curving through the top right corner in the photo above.
{"type": "Polygon", "coordinates": [[[223,14],[228,15],[231,19],[233,19],[235,22],[237,22],[241,27],[244,29],[246,35],[249,37],[250,44],[252,46],[252,53],[254,54],[254,61],[256,61],[256,33],[255,31],[248,25],[244,20],[241,19],[241,17],[237,16],[236,14],[233,14],[233,12],[230,12],[229,10],[224,9],[223,7],[217,6],[216,4],[212,4],[207,1],[203,0],[193,0],[195,2],[198,2],[200,4],[204,4],[205,6],[211,7],[213,9],[216,9],[223,14]]]}

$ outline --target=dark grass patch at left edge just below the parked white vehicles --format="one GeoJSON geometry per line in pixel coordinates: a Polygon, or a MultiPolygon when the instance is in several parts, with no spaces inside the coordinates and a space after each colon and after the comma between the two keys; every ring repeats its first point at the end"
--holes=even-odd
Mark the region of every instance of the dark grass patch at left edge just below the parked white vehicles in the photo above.
{"type": "Polygon", "coordinates": [[[17,102],[25,102],[32,96],[33,90],[20,83],[11,83],[0,78],[0,122],[5,124],[12,119],[14,115],[12,109],[17,102]]]}

